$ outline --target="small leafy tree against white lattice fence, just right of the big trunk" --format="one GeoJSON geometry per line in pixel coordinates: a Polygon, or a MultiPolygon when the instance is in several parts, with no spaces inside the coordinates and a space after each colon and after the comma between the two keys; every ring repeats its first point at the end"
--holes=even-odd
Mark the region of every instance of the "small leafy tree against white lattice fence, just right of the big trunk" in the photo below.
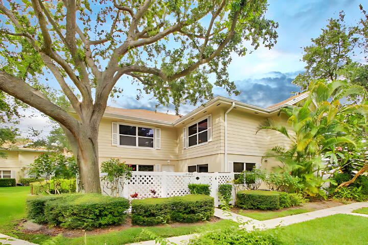
{"type": "Polygon", "coordinates": [[[124,188],[125,180],[129,180],[131,177],[132,168],[120,162],[119,159],[111,158],[108,161],[102,162],[101,172],[106,173],[102,178],[110,186],[110,195],[119,197],[119,190],[124,188]]]}

